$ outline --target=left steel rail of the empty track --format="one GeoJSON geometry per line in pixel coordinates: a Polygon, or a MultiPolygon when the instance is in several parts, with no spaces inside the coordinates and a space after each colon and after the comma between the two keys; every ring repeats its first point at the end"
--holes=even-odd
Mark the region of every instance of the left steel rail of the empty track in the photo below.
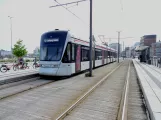
{"type": "Polygon", "coordinates": [[[86,93],[84,93],[75,103],[73,103],[69,108],[67,108],[62,114],[60,114],[55,120],[62,120],[64,117],[66,117],[70,111],[72,111],[81,101],[83,101],[87,96],[90,95],[91,92],[93,92],[100,84],[102,84],[113,72],[115,72],[123,62],[114,68],[110,73],[108,73],[106,76],[104,76],[99,82],[97,82],[93,87],[91,87],[86,93]]]}

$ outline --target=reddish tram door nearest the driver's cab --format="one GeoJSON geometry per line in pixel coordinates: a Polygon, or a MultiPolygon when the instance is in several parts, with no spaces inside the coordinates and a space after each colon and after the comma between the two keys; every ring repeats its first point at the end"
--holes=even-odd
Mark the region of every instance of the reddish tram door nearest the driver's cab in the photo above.
{"type": "Polygon", "coordinates": [[[81,71],[81,46],[76,45],[76,63],[75,63],[75,71],[81,71]]]}

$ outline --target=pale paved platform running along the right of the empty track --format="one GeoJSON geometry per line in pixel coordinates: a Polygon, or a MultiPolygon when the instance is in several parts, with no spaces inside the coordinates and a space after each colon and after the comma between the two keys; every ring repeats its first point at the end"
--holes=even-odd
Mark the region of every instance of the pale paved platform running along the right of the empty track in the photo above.
{"type": "Polygon", "coordinates": [[[161,120],[161,69],[133,60],[151,120],[161,120]]]}

